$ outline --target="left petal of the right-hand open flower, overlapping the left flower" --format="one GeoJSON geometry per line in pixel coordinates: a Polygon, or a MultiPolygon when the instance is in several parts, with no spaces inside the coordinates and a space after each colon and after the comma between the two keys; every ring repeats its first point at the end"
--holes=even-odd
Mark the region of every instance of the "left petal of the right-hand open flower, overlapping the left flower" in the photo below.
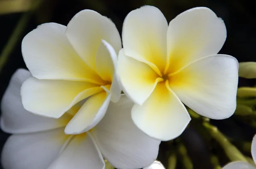
{"type": "Polygon", "coordinates": [[[119,52],[117,73],[126,95],[137,104],[148,99],[158,82],[158,75],[147,64],[119,52]]]}

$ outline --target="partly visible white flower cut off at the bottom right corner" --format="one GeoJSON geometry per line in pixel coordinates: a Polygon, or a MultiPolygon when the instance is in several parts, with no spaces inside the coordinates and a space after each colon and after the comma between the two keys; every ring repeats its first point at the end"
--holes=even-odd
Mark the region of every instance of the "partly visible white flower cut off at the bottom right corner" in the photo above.
{"type": "MultiPolygon", "coordinates": [[[[256,163],[256,135],[253,137],[252,148],[251,148],[253,161],[256,163]]],[[[244,161],[236,161],[227,164],[223,169],[256,169],[256,165],[244,161]]]]}

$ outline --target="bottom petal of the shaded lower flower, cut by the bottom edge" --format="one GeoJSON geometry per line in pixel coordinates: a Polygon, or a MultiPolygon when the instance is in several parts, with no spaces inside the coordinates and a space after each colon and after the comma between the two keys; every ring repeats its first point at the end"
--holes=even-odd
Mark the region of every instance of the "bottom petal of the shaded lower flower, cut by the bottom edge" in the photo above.
{"type": "Polygon", "coordinates": [[[90,133],[75,135],[48,169],[105,169],[105,162],[90,133]]]}

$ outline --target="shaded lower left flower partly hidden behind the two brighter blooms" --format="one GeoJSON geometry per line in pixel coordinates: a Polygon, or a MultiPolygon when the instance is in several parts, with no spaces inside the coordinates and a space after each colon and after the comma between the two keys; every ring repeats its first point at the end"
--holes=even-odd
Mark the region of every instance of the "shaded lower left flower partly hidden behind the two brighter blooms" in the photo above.
{"type": "MultiPolygon", "coordinates": [[[[17,70],[1,102],[1,129],[13,134],[3,147],[4,169],[105,169],[103,158],[118,169],[138,169],[156,159],[160,141],[134,125],[134,103],[126,96],[111,102],[104,118],[89,132],[66,135],[71,113],[56,119],[23,108],[20,87],[29,78],[29,71],[17,70]]],[[[79,111],[76,106],[69,111],[79,111]]]]}

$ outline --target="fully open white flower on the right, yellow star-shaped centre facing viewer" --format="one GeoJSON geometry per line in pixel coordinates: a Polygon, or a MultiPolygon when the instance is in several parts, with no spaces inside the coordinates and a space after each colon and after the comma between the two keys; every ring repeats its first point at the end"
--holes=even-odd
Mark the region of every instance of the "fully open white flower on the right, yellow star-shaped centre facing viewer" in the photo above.
{"type": "Polygon", "coordinates": [[[179,136],[191,120],[183,103],[213,119],[234,113],[238,62],[217,54],[226,35],[223,20],[209,8],[189,9],[169,26],[153,6],[127,15],[117,73],[136,103],[131,115],[137,127],[167,141],[179,136]]]}

